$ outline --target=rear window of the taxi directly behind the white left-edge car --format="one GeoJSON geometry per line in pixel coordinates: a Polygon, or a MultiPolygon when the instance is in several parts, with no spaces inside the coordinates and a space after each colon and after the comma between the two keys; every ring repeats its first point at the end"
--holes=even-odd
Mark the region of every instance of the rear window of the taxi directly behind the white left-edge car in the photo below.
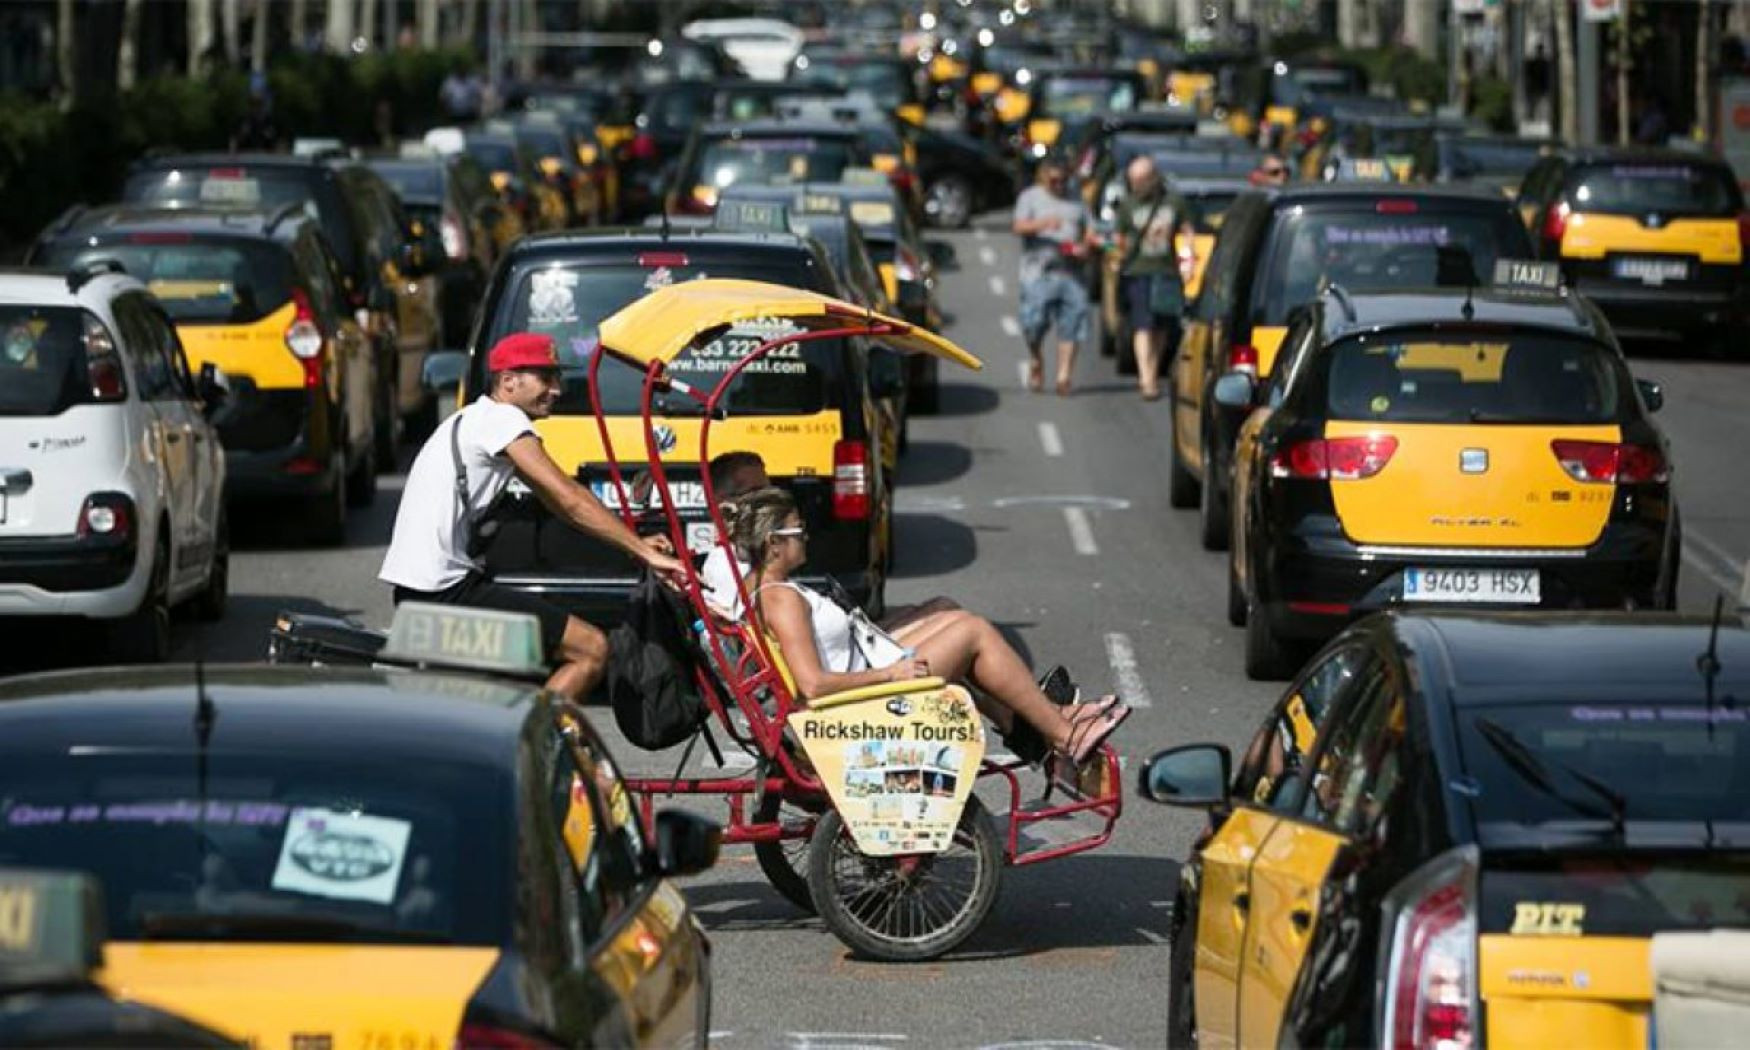
{"type": "Polygon", "coordinates": [[[290,254],[266,242],[175,233],[60,242],[42,264],[72,270],[93,259],[121,262],[177,324],[252,324],[292,299],[290,254]]]}

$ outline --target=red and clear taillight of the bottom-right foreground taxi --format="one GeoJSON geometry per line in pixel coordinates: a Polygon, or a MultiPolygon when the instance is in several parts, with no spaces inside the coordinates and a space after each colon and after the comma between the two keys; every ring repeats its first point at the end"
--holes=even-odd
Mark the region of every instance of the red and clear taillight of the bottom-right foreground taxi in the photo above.
{"type": "Polygon", "coordinates": [[[1386,900],[1386,987],[1381,1031],[1393,1050],[1477,1043],[1477,908],[1474,847],[1440,854],[1386,900]]]}

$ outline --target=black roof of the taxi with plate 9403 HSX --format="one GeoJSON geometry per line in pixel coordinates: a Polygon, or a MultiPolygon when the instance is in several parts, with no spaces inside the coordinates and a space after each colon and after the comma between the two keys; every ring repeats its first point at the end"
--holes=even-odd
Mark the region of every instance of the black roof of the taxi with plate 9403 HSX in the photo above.
{"type": "Polygon", "coordinates": [[[1605,338],[1606,329],[1577,296],[1477,287],[1393,289],[1326,292],[1337,310],[1325,310],[1323,338],[1337,340],[1362,331],[1477,324],[1566,331],[1605,338]],[[1470,317],[1465,317],[1470,303],[1470,317]]]}

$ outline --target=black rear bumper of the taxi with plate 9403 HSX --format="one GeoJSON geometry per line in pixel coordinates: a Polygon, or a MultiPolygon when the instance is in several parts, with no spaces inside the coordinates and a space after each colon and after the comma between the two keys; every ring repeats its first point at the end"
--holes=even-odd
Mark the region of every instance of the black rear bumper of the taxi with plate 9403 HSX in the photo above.
{"type": "Polygon", "coordinates": [[[1302,528],[1272,544],[1260,565],[1258,604],[1270,626],[1284,637],[1323,640],[1351,620],[1381,609],[1657,607],[1664,583],[1666,534],[1648,522],[1612,522],[1598,542],[1577,551],[1362,546],[1346,539],[1335,522],[1325,522],[1328,532],[1302,528]],[[1536,569],[1540,600],[1405,602],[1405,569],[1536,569]]]}

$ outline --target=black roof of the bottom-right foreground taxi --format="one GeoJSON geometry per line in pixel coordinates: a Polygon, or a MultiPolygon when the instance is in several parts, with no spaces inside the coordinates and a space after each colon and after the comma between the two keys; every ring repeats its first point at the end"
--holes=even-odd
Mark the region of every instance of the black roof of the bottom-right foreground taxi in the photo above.
{"type": "MultiPolygon", "coordinates": [[[[1423,674],[1438,679],[1454,707],[1704,700],[1698,658],[1713,626],[1706,616],[1428,612],[1393,620],[1396,637],[1421,656],[1423,674]]],[[[1724,618],[1715,654],[1715,702],[1750,702],[1750,625],[1724,618]]]]}

